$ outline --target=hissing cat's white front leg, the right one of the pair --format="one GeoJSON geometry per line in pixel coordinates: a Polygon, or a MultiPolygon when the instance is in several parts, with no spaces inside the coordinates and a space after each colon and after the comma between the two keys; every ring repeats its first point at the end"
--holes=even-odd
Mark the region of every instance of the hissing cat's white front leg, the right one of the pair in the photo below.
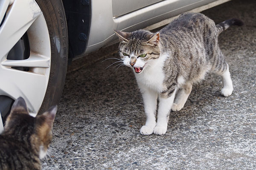
{"type": "Polygon", "coordinates": [[[172,108],[176,89],[168,98],[159,97],[159,108],[157,113],[157,125],[154,127],[154,134],[163,135],[166,133],[169,113],[172,108]]]}

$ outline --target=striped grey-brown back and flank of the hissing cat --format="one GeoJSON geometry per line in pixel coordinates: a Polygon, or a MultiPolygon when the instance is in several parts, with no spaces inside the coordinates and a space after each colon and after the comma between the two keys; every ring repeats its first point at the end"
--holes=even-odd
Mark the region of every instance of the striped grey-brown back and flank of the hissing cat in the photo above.
{"type": "Polygon", "coordinates": [[[179,73],[184,79],[197,82],[209,69],[208,60],[217,46],[218,35],[213,20],[200,13],[185,13],[160,30],[162,51],[172,57],[166,60],[164,69],[166,84],[179,73]],[[174,68],[173,65],[176,65],[174,68]]]}

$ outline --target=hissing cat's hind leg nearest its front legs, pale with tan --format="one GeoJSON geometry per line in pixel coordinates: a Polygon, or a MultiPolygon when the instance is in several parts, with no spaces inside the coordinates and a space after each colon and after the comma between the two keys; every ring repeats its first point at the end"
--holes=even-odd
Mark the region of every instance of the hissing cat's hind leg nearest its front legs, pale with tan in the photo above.
{"type": "Polygon", "coordinates": [[[192,90],[192,84],[187,83],[183,85],[183,87],[178,91],[175,101],[172,105],[172,111],[180,111],[186,103],[186,100],[189,97],[189,94],[191,93],[192,90]]]}

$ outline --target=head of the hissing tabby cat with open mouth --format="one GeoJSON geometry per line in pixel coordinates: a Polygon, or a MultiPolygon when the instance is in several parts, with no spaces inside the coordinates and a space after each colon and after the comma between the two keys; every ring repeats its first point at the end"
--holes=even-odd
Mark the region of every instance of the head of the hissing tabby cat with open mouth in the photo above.
{"type": "Polygon", "coordinates": [[[153,59],[160,56],[160,34],[138,30],[123,32],[114,30],[119,37],[120,57],[124,65],[133,68],[135,73],[141,73],[143,68],[151,65],[153,59]]]}

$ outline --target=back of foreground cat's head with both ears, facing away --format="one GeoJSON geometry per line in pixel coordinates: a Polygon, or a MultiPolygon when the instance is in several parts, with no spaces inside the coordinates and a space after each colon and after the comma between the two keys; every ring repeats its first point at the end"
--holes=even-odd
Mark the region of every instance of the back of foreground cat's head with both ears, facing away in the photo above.
{"type": "Polygon", "coordinates": [[[42,159],[52,141],[52,125],[56,112],[57,106],[53,106],[42,115],[30,116],[25,100],[20,97],[12,105],[3,134],[13,136],[19,142],[32,146],[42,159]]]}

